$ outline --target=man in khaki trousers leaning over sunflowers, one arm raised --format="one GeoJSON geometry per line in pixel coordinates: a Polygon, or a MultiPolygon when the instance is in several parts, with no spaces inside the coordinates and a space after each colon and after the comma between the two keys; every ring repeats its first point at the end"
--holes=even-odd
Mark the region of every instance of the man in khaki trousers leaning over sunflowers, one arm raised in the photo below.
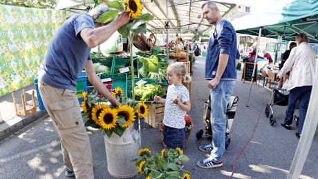
{"type": "Polygon", "coordinates": [[[39,92],[61,138],[66,176],[94,178],[91,144],[76,96],[75,79],[84,67],[88,80],[100,94],[113,105],[120,105],[95,74],[90,57],[91,48],[109,39],[130,20],[123,13],[108,25],[95,22],[108,10],[100,5],[88,14],[75,14],[67,19],[53,36],[39,71],[39,92]]]}

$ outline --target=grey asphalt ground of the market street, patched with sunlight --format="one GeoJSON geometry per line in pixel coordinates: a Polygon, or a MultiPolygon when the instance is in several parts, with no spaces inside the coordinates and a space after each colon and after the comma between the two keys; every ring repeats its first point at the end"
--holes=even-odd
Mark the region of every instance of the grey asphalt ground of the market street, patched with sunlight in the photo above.
{"type": "MultiPolygon", "coordinates": [[[[205,153],[199,151],[198,146],[210,142],[209,138],[196,139],[196,131],[203,129],[203,104],[209,94],[207,83],[203,79],[204,65],[204,59],[198,59],[192,76],[192,109],[189,115],[193,120],[194,129],[185,149],[185,154],[190,158],[185,164],[185,169],[191,172],[191,178],[230,176],[236,154],[250,138],[255,126],[252,140],[236,162],[233,178],[286,178],[299,141],[294,135],[296,126],[293,124],[290,131],[280,125],[270,126],[268,118],[264,115],[265,103],[270,100],[270,92],[263,87],[252,86],[250,107],[245,107],[250,83],[243,84],[241,80],[236,81],[234,89],[234,95],[239,97],[239,101],[230,134],[231,143],[225,152],[223,167],[197,167],[196,162],[205,158],[205,153]]],[[[241,71],[238,71],[238,79],[241,79],[241,71]]],[[[285,110],[286,107],[274,107],[274,116],[278,123],[283,120],[285,110]]],[[[107,171],[102,134],[93,134],[90,139],[95,178],[113,178],[107,171]]],[[[317,141],[316,133],[300,178],[318,178],[317,141]]],[[[162,149],[158,129],[145,123],[142,123],[142,147],[149,147],[157,153],[162,149]]],[[[59,137],[49,118],[37,120],[15,135],[0,141],[0,178],[65,178],[64,170],[59,137]]]]}

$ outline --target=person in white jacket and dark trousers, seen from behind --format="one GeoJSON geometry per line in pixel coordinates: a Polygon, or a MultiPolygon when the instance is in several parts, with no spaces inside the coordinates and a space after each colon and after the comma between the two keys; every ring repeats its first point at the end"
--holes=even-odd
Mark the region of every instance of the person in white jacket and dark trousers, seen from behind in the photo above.
{"type": "Polygon", "coordinates": [[[308,103],[312,84],[315,77],[315,51],[308,44],[308,36],[306,34],[298,34],[296,36],[297,47],[292,48],[290,56],[284,63],[279,72],[278,80],[281,76],[290,72],[287,90],[290,91],[288,96],[288,107],[286,118],[281,125],[286,129],[291,129],[292,118],[294,116],[294,108],[296,102],[299,101],[299,125],[296,136],[301,136],[303,123],[305,122],[308,103]]]}

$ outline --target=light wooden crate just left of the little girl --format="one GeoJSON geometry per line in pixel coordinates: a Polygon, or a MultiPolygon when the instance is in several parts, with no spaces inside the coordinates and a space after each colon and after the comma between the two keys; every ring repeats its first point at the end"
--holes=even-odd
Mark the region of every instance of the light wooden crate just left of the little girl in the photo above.
{"type": "Polygon", "coordinates": [[[163,114],[165,112],[165,105],[153,104],[148,105],[148,116],[144,119],[144,122],[156,128],[157,123],[163,120],[163,114]]]}

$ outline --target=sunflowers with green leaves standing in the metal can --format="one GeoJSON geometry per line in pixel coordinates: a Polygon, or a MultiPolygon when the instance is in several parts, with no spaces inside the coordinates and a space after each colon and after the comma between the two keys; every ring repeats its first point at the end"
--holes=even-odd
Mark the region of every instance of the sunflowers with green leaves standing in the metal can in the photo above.
{"type": "Polygon", "coordinates": [[[121,106],[114,107],[109,105],[106,98],[98,98],[96,90],[90,94],[83,92],[84,101],[81,104],[87,119],[85,126],[101,129],[109,138],[113,133],[121,137],[137,116],[146,118],[148,115],[147,105],[127,98],[122,89],[116,88],[112,95],[120,101],[121,106]]]}

